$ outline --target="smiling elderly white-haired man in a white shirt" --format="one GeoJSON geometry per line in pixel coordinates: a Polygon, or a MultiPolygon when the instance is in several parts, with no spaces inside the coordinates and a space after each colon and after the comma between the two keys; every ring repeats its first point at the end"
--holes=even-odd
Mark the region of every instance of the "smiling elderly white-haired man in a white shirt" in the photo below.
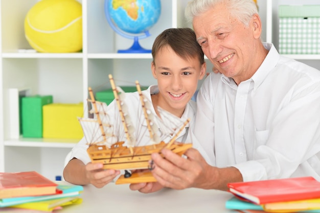
{"type": "Polygon", "coordinates": [[[252,0],[193,0],[186,9],[204,54],[219,70],[197,96],[194,134],[212,165],[190,149],[152,156],[156,183],[227,190],[228,182],[313,176],[320,181],[320,71],[262,43],[252,0]]]}

